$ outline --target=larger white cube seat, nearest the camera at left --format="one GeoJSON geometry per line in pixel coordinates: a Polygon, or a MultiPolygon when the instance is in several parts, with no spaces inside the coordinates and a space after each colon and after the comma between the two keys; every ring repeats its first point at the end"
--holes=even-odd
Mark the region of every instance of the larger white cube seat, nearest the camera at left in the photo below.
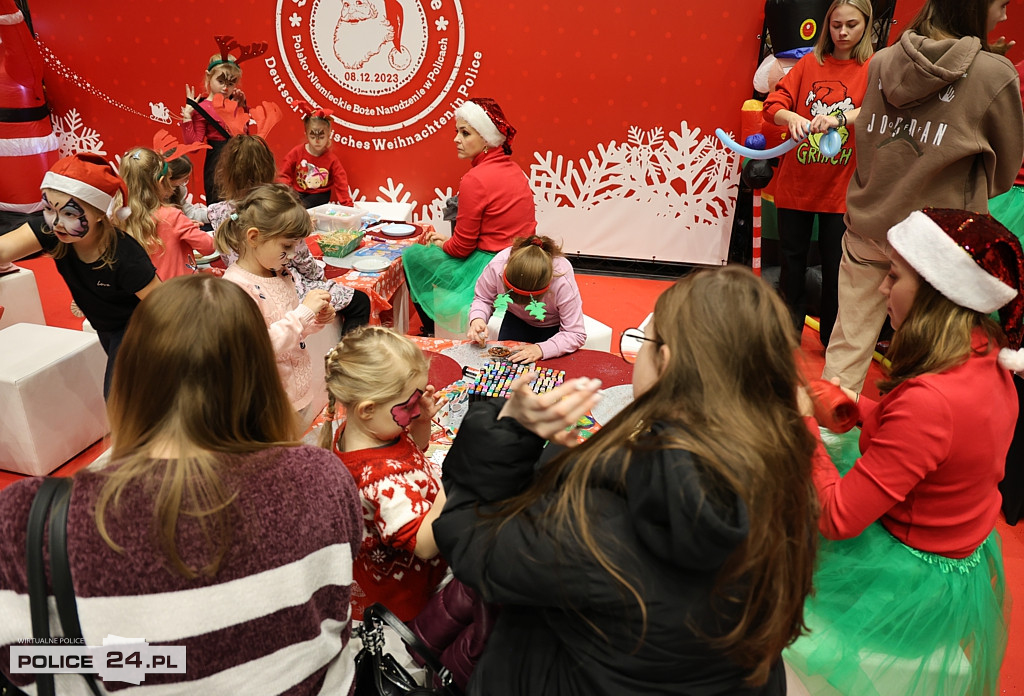
{"type": "Polygon", "coordinates": [[[94,334],[16,323],[0,330],[0,469],[43,476],[110,430],[106,354],[94,334]]]}

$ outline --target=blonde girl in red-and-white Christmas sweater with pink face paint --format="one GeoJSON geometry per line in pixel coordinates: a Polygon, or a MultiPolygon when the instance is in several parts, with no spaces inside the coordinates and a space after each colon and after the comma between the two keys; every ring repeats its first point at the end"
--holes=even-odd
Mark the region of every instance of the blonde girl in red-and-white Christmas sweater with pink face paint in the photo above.
{"type": "Polygon", "coordinates": [[[366,533],[352,576],[352,615],[381,602],[402,620],[415,617],[444,576],[432,524],[444,507],[440,468],[423,455],[437,411],[427,361],[409,339],[365,327],[328,353],[329,421],[321,445],[351,472],[362,498],[366,533]]]}

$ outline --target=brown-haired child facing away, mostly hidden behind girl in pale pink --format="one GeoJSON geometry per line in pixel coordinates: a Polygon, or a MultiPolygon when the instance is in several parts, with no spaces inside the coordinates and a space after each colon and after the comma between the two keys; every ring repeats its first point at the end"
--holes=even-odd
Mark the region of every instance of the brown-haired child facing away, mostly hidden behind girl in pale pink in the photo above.
{"type": "MultiPolygon", "coordinates": [[[[236,135],[221,153],[217,163],[217,189],[224,201],[209,207],[210,222],[217,229],[234,212],[236,202],[254,187],[272,183],[276,177],[273,153],[266,140],[258,135],[236,135]]],[[[224,263],[230,265],[238,257],[229,254],[224,263]]],[[[326,290],[331,294],[331,306],[341,320],[344,332],[370,322],[370,298],[366,293],[343,286],[337,280],[329,280],[324,275],[324,267],[309,252],[303,242],[295,249],[285,267],[295,280],[300,298],[305,298],[311,290],[326,290]]]]}

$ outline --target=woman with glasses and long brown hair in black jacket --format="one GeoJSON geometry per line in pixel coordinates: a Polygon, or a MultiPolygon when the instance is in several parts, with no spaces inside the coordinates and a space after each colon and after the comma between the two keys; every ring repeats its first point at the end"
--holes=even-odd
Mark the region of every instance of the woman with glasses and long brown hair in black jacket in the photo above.
{"type": "Polygon", "coordinates": [[[524,379],[463,421],[434,536],[503,606],[468,692],[783,694],[817,519],[788,311],[700,271],[624,347],[635,399],[578,447],[597,380],[524,379]],[[538,467],[545,440],[565,448],[538,467]]]}

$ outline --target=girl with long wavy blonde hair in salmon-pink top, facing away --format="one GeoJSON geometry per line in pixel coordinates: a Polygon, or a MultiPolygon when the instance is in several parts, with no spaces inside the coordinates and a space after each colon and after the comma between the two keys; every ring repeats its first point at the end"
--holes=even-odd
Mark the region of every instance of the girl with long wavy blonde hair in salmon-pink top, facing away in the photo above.
{"type": "Polygon", "coordinates": [[[213,253],[213,237],[179,208],[164,203],[171,191],[170,167],[156,151],[135,147],[121,160],[131,213],[125,231],[150,254],[162,280],[195,272],[193,251],[213,253]]]}

